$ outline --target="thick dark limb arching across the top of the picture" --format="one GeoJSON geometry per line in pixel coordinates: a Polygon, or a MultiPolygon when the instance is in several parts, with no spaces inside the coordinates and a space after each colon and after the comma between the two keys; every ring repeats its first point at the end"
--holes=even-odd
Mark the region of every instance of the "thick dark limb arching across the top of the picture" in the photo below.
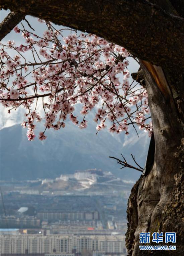
{"type": "Polygon", "coordinates": [[[184,68],[184,19],[148,0],[0,0],[0,7],[95,33],[158,66],[184,68]]]}

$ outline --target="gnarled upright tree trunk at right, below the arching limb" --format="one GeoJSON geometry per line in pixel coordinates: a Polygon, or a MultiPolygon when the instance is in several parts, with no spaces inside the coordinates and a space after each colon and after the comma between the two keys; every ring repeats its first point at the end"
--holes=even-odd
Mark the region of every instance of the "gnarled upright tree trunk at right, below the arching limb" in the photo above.
{"type": "Polygon", "coordinates": [[[183,255],[183,76],[173,70],[163,71],[161,67],[144,61],[142,68],[153,121],[155,156],[153,166],[131,190],[126,246],[128,255],[149,255],[148,251],[139,250],[139,233],[150,232],[152,238],[153,232],[176,232],[176,251],[150,253],[159,256],[183,255]]]}

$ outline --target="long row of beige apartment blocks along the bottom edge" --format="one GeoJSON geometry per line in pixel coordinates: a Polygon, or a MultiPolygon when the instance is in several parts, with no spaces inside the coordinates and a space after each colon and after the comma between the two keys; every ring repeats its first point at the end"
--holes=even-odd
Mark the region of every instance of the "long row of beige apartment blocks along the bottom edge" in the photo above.
{"type": "Polygon", "coordinates": [[[0,253],[2,254],[72,254],[105,252],[125,253],[125,237],[123,235],[48,235],[19,234],[1,235],[0,253]]]}

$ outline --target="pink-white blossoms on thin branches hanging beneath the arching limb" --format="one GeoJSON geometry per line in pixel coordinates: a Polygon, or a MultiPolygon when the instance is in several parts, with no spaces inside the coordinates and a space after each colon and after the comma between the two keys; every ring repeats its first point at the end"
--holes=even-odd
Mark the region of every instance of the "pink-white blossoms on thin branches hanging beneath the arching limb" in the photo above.
{"type": "Polygon", "coordinates": [[[147,92],[129,82],[127,50],[93,34],[71,33],[71,29],[63,37],[63,29],[46,25],[42,36],[16,26],[14,31],[22,33],[25,44],[8,41],[0,49],[0,101],[9,112],[20,106],[26,109],[22,126],[28,129],[28,140],[34,140],[35,122],[42,118],[45,130],[39,133],[40,140],[47,138],[46,129],[65,127],[67,117],[84,129],[93,109],[97,132],[108,127],[112,133],[128,134],[132,124],[151,134],[147,92]],[[37,112],[40,99],[42,118],[37,112]],[[80,117],[75,115],[78,103],[80,117]]]}

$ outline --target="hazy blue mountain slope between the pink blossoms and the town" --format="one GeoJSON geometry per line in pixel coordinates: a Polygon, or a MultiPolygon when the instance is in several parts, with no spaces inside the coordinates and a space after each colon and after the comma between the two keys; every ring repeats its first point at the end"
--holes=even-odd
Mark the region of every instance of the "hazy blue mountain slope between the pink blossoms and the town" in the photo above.
{"type": "MultiPolygon", "coordinates": [[[[65,129],[50,129],[45,141],[35,138],[33,142],[27,141],[26,129],[20,124],[1,129],[1,180],[56,178],[61,174],[72,174],[76,170],[91,168],[111,171],[120,178],[139,178],[139,172],[120,170],[115,160],[109,159],[108,156],[120,157],[120,153],[123,153],[130,159],[130,153],[133,153],[137,161],[144,166],[148,136],[142,133],[141,138],[134,142],[132,137],[127,138],[124,134],[112,135],[107,130],[95,135],[95,127],[96,124],[92,120],[89,121],[89,127],[83,130],[68,121],[65,129]]],[[[38,125],[37,131],[41,131],[40,128],[42,124],[38,125]]]]}

